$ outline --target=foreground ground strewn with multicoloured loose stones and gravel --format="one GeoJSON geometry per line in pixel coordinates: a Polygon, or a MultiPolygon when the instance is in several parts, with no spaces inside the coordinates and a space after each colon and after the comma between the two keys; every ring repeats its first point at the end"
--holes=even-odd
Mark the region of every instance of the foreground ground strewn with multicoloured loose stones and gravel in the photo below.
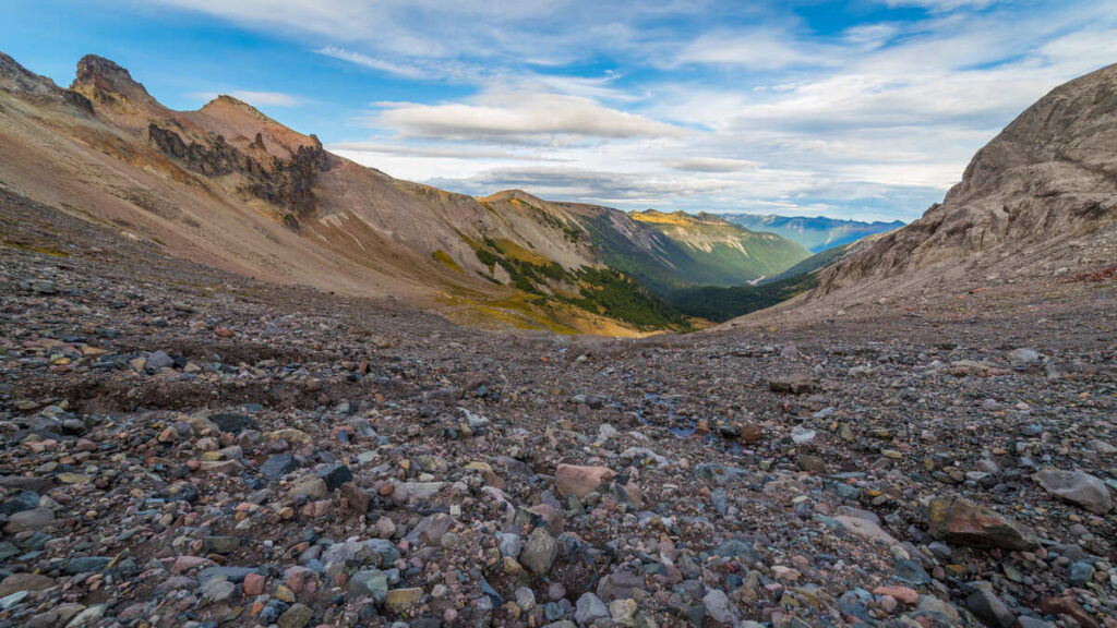
{"type": "Polygon", "coordinates": [[[621,342],[0,217],[0,626],[1117,626],[1111,273],[621,342]]]}

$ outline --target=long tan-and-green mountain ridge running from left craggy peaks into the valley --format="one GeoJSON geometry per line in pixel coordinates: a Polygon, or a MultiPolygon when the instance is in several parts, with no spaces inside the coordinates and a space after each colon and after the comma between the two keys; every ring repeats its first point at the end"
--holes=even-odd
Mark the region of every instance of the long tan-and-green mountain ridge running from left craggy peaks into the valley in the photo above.
{"type": "Polygon", "coordinates": [[[0,184],[169,256],[475,325],[688,329],[641,280],[732,285],[806,256],[708,218],[667,229],[518,190],[472,198],[401,181],[230,96],[172,111],[97,56],[63,88],[0,54],[0,184]]]}

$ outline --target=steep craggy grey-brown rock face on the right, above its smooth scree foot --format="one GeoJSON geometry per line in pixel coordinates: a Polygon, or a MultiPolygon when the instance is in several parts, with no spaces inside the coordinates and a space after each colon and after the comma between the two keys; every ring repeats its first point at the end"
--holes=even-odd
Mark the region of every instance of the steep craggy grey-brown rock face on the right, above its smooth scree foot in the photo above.
{"type": "Polygon", "coordinates": [[[1024,111],[974,155],[942,204],[824,270],[814,294],[937,264],[977,269],[1025,258],[1111,220],[1115,210],[1117,65],[1024,111]]]}

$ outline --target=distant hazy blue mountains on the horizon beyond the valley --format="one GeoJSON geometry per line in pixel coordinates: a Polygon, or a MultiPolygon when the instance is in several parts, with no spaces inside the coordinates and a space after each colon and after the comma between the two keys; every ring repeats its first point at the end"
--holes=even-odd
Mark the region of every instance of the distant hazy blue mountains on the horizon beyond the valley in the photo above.
{"type": "Polygon", "coordinates": [[[815,216],[776,216],[774,213],[723,213],[720,217],[734,225],[753,231],[776,234],[799,242],[811,253],[822,253],[829,248],[857,241],[866,236],[898,229],[904,222],[861,222],[815,216]]]}

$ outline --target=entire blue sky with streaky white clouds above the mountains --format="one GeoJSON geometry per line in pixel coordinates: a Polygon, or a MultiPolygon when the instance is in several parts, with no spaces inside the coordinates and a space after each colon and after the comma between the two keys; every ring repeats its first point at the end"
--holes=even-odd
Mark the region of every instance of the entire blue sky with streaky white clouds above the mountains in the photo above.
{"type": "Polygon", "coordinates": [[[111,58],[393,177],[621,209],[913,220],[1043,94],[1117,63],[1117,0],[4,0],[60,85],[111,58]]]}

